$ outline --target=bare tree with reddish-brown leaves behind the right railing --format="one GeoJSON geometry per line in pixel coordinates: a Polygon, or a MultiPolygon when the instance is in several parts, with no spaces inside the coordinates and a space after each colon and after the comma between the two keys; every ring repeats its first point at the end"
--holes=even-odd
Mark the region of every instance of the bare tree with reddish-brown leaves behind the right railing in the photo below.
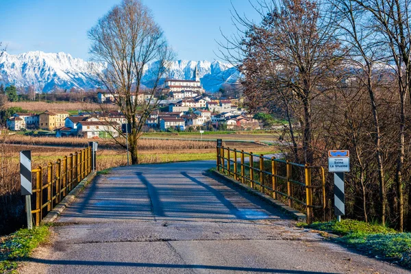
{"type": "MultiPolygon", "coordinates": [[[[238,19],[249,28],[236,47],[242,52],[240,71],[245,82],[264,85],[273,96],[282,97],[286,107],[295,106],[293,118],[301,124],[303,161],[312,163],[313,102],[337,80],[334,72],[340,62],[340,44],[333,37],[332,21],[321,16],[315,1],[258,3],[262,23],[247,25],[244,18],[238,19]]],[[[246,96],[253,93],[246,88],[246,96]]]]}

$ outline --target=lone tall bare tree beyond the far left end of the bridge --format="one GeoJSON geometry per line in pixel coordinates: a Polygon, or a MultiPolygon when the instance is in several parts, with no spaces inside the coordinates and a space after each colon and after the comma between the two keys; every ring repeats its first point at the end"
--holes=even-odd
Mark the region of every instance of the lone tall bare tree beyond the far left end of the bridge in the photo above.
{"type": "MultiPolygon", "coordinates": [[[[91,40],[92,61],[106,64],[95,68],[101,85],[114,97],[114,103],[123,112],[132,132],[128,135],[132,164],[138,164],[138,139],[151,111],[158,106],[155,97],[160,79],[173,60],[173,52],[155,23],[149,8],[140,0],[123,0],[88,31],[91,40]],[[155,62],[149,99],[142,100],[142,76],[147,65],[155,62]]],[[[119,134],[121,132],[119,131],[119,134]]],[[[123,135],[122,135],[123,136],[123,135]]],[[[121,139],[114,139],[124,146],[121,139]]]]}

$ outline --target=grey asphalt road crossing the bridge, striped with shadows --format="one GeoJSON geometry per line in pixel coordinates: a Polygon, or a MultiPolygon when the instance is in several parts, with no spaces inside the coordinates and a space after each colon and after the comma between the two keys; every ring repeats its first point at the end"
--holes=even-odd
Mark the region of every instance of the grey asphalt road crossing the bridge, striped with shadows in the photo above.
{"type": "Polygon", "coordinates": [[[100,175],[20,272],[409,273],[295,227],[205,173],[212,166],[126,166],[100,175]]]}

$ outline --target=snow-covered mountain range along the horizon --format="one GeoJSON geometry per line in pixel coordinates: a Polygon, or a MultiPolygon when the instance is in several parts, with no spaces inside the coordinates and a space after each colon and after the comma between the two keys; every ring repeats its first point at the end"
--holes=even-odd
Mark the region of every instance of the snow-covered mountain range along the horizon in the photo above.
{"type": "MultiPolygon", "coordinates": [[[[219,90],[222,84],[234,83],[239,73],[233,66],[215,61],[179,60],[171,64],[169,77],[175,79],[192,79],[195,66],[198,64],[201,84],[208,91],[219,90]]],[[[14,84],[18,87],[34,86],[37,90],[49,92],[55,88],[97,88],[91,62],[73,58],[67,53],[44,53],[29,51],[18,55],[3,53],[0,58],[0,83],[14,84]]],[[[147,66],[142,84],[151,86],[151,79],[158,63],[147,66]]],[[[99,70],[104,66],[97,64],[99,70]]]]}

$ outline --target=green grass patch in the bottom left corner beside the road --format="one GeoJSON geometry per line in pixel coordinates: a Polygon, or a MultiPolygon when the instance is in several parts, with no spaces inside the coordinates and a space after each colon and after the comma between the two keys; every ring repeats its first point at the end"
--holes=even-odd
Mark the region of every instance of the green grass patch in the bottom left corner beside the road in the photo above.
{"type": "Polygon", "coordinates": [[[19,229],[0,238],[0,273],[16,273],[18,262],[28,258],[33,249],[47,242],[50,232],[47,225],[34,229],[19,229]]]}

